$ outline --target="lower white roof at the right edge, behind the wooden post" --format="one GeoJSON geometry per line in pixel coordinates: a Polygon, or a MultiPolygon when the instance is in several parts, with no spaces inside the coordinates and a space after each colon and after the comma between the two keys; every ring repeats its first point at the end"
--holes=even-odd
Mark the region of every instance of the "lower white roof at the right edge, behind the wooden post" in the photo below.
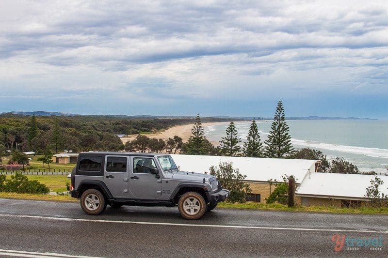
{"type": "MultiPolygon", "coordinates": [[[[388,176],[378,176],[384,183],[380,192],[388,195],[388,176]]],[[[296,189],[301,197],[365,200],[367,187],[371,186],[373,175],[311,173],[296,189]]]]}

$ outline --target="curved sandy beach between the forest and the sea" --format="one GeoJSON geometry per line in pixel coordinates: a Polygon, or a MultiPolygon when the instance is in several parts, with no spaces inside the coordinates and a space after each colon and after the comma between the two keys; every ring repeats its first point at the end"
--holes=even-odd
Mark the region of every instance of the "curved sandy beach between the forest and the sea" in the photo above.
{"type": "MultiPolygon", "coordinates": [[[[217,125],[217,124],[228,124],[229,122],[209,122],[209,123],[202,123],[202,126],[209,126],[209,125],[217,125]]],[[[238,121],[234,122],[236,123],[246,123],[246,121],[238,121]]],[[[193,128],[193,123],[191,124],[185,124],[185,125],[178,125],[168,128],[165,131],[162,131],[157,134],[148,134],[147,137],[152,138],[162,138],[163,140],[166,140],[168,138],[173,138],[174,136],[179,136],[182,138],[183,142],[187,142],[191,135],[191,129],[193,128]]],[[[123,143],[126,143],[129,140],[133,140],[137,135],[128,135],[127,137],[121,137],[121,140],[123,143]]],[[[219,142],[216,141],[210,141],[213,145],[219,145],[219,142]]]]}

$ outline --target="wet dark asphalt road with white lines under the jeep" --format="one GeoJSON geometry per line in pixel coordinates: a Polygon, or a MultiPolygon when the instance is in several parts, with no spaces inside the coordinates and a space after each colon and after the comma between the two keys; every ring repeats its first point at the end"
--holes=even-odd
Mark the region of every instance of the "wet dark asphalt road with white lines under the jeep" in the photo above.
{"type": "Polygon", "coordinates": [[[216,208],[188,221],[178,208],[88,216],[79,203],[0,199],[0,257],[388,257],[387,218],[216,208]]]}

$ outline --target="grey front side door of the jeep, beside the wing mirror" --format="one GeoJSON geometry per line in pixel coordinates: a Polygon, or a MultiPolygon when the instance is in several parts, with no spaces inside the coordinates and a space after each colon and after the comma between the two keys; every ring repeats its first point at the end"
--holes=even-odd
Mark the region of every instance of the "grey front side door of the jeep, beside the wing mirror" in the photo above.
{"type": "Polygon", "coordinates": [[[151,174],[156,168],[153,157],[133,156],[130,169],[129,191],[133,197],[140,199],[155,199],[162,196],[162,178],[151,174]]]}

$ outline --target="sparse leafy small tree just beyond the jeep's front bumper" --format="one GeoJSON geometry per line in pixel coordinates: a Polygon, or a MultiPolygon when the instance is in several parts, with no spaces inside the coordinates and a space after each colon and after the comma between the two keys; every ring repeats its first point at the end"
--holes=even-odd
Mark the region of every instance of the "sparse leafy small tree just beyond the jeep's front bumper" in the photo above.
{"type": "Polygon", "coordinates": [[[230,191],[230,196],[226,199],[228,202],[245,202],[246,193],[251,189],[249,184],[243,180],[245,175],[240,174],[239,170],[234,169],[231,162],[220,162],[219,167],[210,167],[210,175],[215,176],[223,188],[230,191]]]}

